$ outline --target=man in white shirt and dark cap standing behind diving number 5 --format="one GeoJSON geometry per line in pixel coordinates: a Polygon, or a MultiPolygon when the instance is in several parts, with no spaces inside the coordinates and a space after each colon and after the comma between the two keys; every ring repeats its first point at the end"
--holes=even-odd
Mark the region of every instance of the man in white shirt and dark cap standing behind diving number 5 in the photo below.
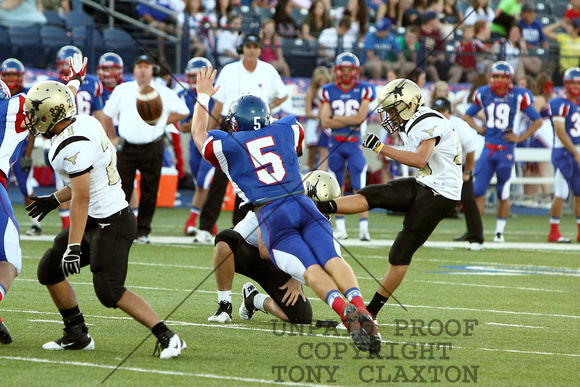
{"type": "MultiPolygon", "coordinates": [[[[209,129],[217,128],[223,123],[223,118],[228,115],[230,105],[242,93],[259,96],[268,103],[270,110],[288,98],[288,89],[274,66],[258,59],[262,53],[260,37],[253,34],[246,35],[241,49],[242,59],[226,65],[216,80],[216,87],[219,86],[220,89],[212,97],[214,105],[209,120],[209,129]]],[[[227,131],[225,126],[222,130],[227,131]]],[[[213,243],[211,231],[221,212],[227,185],[226,175],[221,171],[216,171],[207,200],[200,213],[200,231],[194,239],[195,242],[213,243]]],[[[246,215],[246,211],[241,211],[238,208],[239,204],[240,201],[236,198],[233,215],[234,225],[246,215]]]]}

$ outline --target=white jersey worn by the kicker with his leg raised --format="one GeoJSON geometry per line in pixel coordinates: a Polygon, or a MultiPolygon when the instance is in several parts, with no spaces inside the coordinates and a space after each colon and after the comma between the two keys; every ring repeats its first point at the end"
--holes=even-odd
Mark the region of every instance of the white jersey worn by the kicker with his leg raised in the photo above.
{"type": "Polygon", "coordinates": [[[419,169],[417,180],[448,199],[460,200],[461,143],[451,121],[427,107],[420,107],[399,133],[405,150],[415,153],[422,141],[439,138],[424,168],[419,169]]]}

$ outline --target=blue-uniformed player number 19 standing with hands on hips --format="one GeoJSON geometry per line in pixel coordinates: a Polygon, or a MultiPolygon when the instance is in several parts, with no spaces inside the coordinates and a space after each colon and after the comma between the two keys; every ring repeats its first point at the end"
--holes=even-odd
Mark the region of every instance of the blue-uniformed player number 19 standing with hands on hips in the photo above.
{"type": "Polygon", "coordinates": [[[515,163],[514,149],[517,143],[531,137],[542,126],[542,117],[534,109],[532,92],[513,86],[512,66],[499,61],[492,65],[489,86],[481,86],[475,92],[473,104],[467,109],[464,120],[485,137],[485,146],[475,164],[473,190],[475,201],[483,214],[485,193],[494,173],[497,176],[497,222],[494,242],[504,242],[504,228],[510,210],[510,178],[515,163]],[[474,117],[484,109],[485,127],[477,125],[474,117]],[[521,114],[532,122],[519,136],[521,114]]]}

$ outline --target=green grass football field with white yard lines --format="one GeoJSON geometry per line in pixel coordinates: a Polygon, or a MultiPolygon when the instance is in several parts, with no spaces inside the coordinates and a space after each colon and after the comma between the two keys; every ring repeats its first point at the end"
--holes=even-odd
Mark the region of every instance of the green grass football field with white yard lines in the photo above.
{"type": "MultiPolygon", "coordinates": [[[[26,230],[22,206],[15,210],[26,230]]],[[[180,236],[187,211],[159,209],[152,235],[180,236]]],[[[230,219],[224,213],[220,228],[230,219]]],[[[371,237],[393,239],[401,222],[398,216],[371,213],[371,237]]],[[[55,234],[58,216],[51,214],[43,226],[46,234],[55,234]]],[[[494,226],[495,218],[486,215],[487,240],[494,226]]],[[[347,218],[347,227],[351,236],[357,235],[354,217],[347,218]]],[[[463,218],[446,219],[430,241],[451,241],[464,228],[463,218]]],[[[507,248],[509,242],[545,242],[548,230],[547,217],[518,216],[508,220],[506,249],[469,252],[457,244],[421,248],[395,293],[402,306],[391,299],[379,314],[381,359],[358,353],[346,331],[285,326],[263,313],[242,322],[236,310],[246,282],[241,276],[234,280],[234,321],[208,323],[217,307],[212,248],[191,243],[134,246],[127,278],[127,286],[161,318],[171,313],[168,325],[188,345],[181,357],[153,357],[153,337],[123,312],[100,305],[87,269],[69,278],[96,349],[43,351],[42,344],[59,338],[63,328],[48,292],[36,281],[37,263],[51,244],[22,241],[22,273],[0,303],[0,315],[13,336],[12,344],[0,346],[0,384],[578,385],[580,251],[507,248]]],[[[575,240],[571,216],[562,220],[561,230],[575,240]]],[[[367,301],[377,289],[367,270],[382,278],[388,251],[373,243],[343,249],[367,301]]],[[[315,319],[336,319],[309,289],[305,292],[315,319]]]]}

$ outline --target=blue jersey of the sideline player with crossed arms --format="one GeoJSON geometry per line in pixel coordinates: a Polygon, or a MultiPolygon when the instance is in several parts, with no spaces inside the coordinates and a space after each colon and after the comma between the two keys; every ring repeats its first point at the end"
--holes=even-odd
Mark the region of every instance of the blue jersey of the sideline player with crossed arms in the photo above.
{"type": "MultiPolygon", "coordinates": [[[[329,103],[334,117],[355,116],[360,109],[362,101],[375,99],[375,88],[368,82],[359,81],[349,90],[344,90],[336,83],[329,83],[320,88],[318,97],[321,103],[329,103]]],[[[361,123],[361,131],[366,129],[366,121],[361,123]]],[[[344,126],[342,128],[332,129],[332,134],[347,136],[352,128],[344,126]]],[[[352,135],[360,136],[361,131],[354,132],[352,135]]]]}

